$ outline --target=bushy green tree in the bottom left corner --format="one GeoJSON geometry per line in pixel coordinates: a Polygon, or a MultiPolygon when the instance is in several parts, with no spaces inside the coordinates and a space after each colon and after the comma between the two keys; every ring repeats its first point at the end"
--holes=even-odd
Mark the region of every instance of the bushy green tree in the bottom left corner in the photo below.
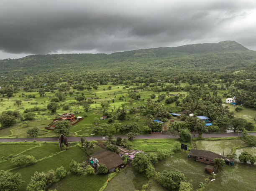
{"type": "Polygon", "coordinates": [[[8,171],[0,171],[0,190],[18,191],[23,183],[20,173],[13,174],[8,171]]]}

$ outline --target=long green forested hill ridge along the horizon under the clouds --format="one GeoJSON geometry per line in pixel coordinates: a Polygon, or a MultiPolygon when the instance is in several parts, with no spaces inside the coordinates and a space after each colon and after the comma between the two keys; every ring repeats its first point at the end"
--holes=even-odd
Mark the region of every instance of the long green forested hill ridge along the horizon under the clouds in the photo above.
{"type": "Polygon", "coordinates": [[[51,70],[237,70],[256,63],[256,51],[235,41],[150,48],[112,54],[31,55],[0,60],[0,73],[51,70]]]}

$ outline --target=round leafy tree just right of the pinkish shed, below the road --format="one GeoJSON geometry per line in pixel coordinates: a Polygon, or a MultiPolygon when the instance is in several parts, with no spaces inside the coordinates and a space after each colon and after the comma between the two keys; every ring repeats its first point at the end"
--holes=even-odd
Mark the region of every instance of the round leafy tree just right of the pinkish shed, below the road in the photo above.
{"type": "Polygon", "coordinates": [[[141,152],[137,153],[132,161],[133,167],[140,173],[145,173],[146,168],[151,164],[150,158],[141,152]]]}

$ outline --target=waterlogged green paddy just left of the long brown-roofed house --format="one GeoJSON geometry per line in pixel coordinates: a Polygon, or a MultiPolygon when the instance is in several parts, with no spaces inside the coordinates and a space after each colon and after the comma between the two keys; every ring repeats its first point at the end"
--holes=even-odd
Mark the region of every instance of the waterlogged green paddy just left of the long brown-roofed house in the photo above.
{"type": "Polygon", "coordinates": [[[177,152],[172,157],[168,157],[162,161],[155,163],[154,167],[157,172],[164,170],[181,171],[187,178],[187,181],[192,183],[194,189],[198,188],[200,182],[204,182],[210,174],[205,173],[205,164],[193,161],[187,158],[187,153],[177,152]]]}

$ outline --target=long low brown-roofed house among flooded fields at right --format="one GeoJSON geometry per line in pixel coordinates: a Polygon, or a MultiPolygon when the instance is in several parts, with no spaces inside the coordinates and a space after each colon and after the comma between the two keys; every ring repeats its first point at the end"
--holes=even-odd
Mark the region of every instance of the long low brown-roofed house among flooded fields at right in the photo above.
{"type": "Polygon", "coordinates": [[[200,161],[207,164],[214,165],[214,159],[215,158],[222,158],[226,164],[231,164],[233,166],[234,160],[229,159],[225,156],[218,155],[216,153],[213,153],[212,151],[205,151],[205,150],[197,150],[197,149],[191,149],[189,153],[187,154],[187,158],[192,158],[196,161],[200,161]]]}

